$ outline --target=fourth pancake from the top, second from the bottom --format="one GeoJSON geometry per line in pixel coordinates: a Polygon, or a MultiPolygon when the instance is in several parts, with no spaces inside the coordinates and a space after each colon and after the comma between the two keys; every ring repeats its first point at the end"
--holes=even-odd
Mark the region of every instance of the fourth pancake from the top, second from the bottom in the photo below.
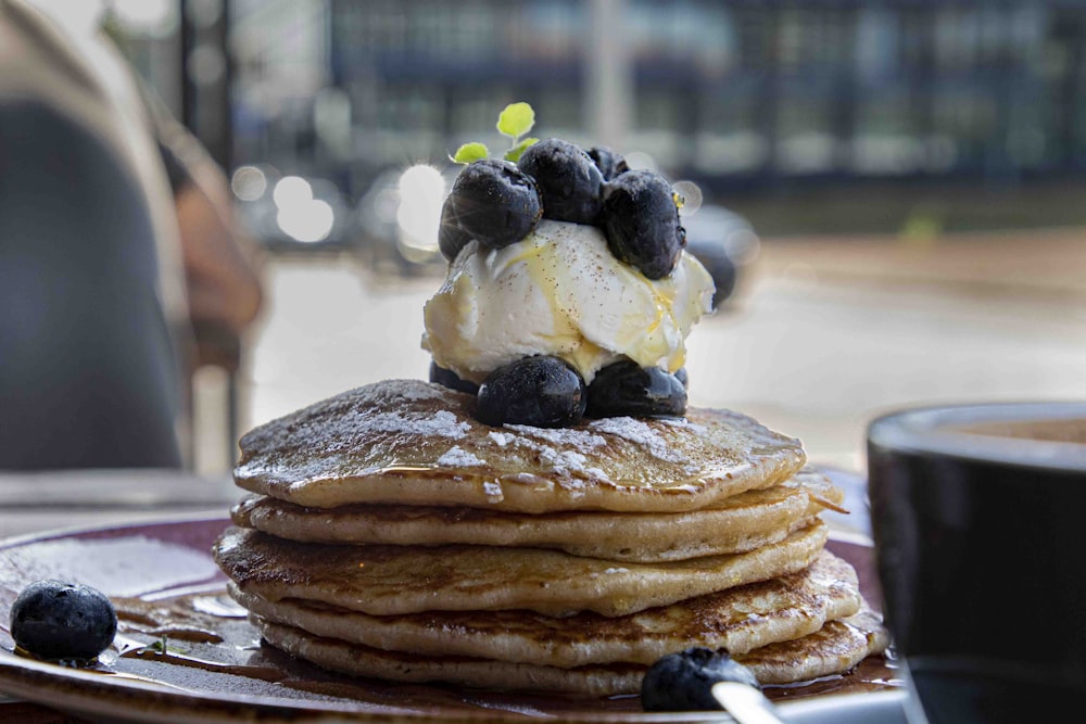
{"type": "Polygon", "coordinates": [[[229,584],[242,607],[315,636],[416,655],[466,656],[570,668],[629,661],[652,664],[689,646],[754,648],[817,632],[856,613],[856,572],[829,551],[806,570],[717,594],[607,618],[581,612],[555,619],[531,611],[371,617],[302,599],[267,601],[229,584]]]}

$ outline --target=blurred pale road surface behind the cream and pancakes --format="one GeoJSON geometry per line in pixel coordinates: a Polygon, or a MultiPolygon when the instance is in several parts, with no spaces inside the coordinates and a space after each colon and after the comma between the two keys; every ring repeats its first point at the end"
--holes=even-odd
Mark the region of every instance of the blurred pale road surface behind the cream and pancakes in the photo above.
{"type": "MultiPolygon", "coordinates": [[[[864,466],[867,423],[939,402],[1086,398],[1086,231],[933,240],[767,239],[695,327],[691,402],[737,409],[864,466]]],[[[352,386],[425,377],[440,280],[350,257],[276,257],[242,381],[242,429],[352,386]]]]}

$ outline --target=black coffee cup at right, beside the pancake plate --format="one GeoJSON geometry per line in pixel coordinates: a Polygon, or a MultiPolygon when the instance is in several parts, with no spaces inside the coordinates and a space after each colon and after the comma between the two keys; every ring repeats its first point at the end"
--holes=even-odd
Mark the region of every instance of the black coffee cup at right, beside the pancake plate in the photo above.
{"type": "Polygon", "coordinates": [[[883,612],[914,719],[1062,721],[1086,694],[1086,402],[868,427],[883,612]]]}

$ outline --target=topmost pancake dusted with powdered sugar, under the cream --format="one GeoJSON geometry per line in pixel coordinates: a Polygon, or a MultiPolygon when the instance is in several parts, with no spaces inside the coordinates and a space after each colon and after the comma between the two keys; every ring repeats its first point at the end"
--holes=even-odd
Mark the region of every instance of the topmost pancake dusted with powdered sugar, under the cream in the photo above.
{"type": "Polygon", "coordinates": [[[674,512],[775,485],[806,462],[799,441],[728,410],[564,429],[492,428],[473,410],[471,395],[421,380],[357,388],[242,436],[235,481],[314,508],[674,512]]]}

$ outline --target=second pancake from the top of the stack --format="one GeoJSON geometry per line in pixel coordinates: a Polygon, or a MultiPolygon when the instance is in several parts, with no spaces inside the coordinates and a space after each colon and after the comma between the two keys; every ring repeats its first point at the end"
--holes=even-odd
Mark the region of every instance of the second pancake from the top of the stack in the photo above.
{"type": "Polygon", "coordinates": [[[810,525],[844,493],[812,470],[773,487],[747,491],[711,508],[678,513],[563,511],[518,513],[480,508],[353,505],[305,508],[250,496],[233,522],[308,543],[441,546],[478,544],[556,548],[614,561],[659,562],[743,552],[810,525]]]}

